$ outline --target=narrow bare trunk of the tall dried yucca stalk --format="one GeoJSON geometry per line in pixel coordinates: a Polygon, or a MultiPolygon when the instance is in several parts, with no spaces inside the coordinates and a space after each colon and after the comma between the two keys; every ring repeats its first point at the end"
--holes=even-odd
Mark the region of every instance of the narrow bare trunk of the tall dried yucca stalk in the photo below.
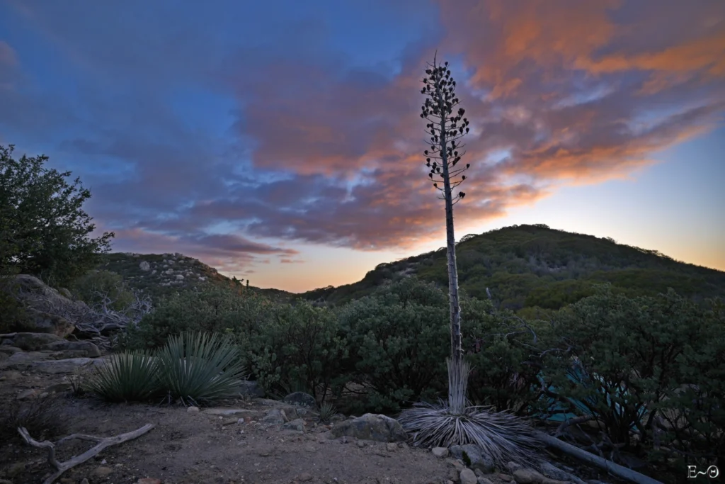
{"type": "MultiPolygon", "coordinates": [[[[438,83],[436,83],[436,95],[438,96],[439,106],[443,106],[443,94],[438,83]]],[[[446,136],[446,117],[441,112],[441,161],[443,169],[443,188],[446,202],[446,244],[448,248],[448,295],[450,299],[451,313],[451,363],[448,365],[449,383],[460,380],[461,374],[452,374],[451,372],[463,372],[463,335],[460,330],[460,305],[458,304],[458,271],[455,261],[455,237],[453,233],[453,200],[448,172],[448,152],[447,152],[447,136],[446,136]]],[[[465,374],[465,378],[468,374],[465,374]]],[[[465,385],[455,385],[448,387],[448,400],[451,411],[454,414],[463,414],[465,410],[465,385]],[[463,394],[461,394],[463,393],[463,394]]]]}

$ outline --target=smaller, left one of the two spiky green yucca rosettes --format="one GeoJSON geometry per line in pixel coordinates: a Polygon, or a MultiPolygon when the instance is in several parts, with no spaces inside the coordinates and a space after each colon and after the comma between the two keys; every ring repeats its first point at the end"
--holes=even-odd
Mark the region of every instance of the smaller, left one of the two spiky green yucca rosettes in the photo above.
{"type": "Polygon", "coordinates": [[[85,389],[106,401],[147,401],[159,393],[157,361],[147,351],[126,351],[97,367],[85,389]]]}

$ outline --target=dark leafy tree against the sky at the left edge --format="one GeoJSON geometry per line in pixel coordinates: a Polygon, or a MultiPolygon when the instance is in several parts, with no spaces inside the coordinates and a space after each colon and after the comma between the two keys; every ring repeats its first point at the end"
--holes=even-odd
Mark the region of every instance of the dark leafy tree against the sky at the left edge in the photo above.
{"type": "Polygon", "coordinates": [[[45,168],[45,155],[14,160],[14,146],[0,146],[0,268],[65,285],[85,274],[110,250],[113,232],[96,229],[83,210],[91,192],[70,171],[45,168]]]}

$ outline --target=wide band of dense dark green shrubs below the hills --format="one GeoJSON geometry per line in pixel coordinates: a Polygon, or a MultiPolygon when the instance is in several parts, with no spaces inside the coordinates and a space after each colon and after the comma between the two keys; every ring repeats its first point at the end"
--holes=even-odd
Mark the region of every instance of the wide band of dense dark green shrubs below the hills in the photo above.
{"type": "MultiPolygon", "coordinates": [[[[722,464],[725,306],[672,290],[631,297],[603,284],[591,292],[540,319],[463,294],[471,401],[521,416],[590,417],[615,454],[722,464]]],[[[445,292],[415,277],[336,308],[214,289],[165,301],[125,345],[222,332],[272,394],[305,390],[352,413],[394,413],[444,396],[448,324],[445,292]]]]}

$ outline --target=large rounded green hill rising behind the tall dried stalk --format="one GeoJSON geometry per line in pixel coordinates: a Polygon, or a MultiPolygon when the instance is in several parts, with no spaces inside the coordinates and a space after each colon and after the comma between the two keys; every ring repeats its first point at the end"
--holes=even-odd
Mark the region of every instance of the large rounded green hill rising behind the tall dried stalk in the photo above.
{"type": "MultiPolygon", "coordinates": [[[[725,272],[675,261],[656,250],[621,245],[610,238],[550,229],[543,224],[510,226],[466,235],[456,250],[460,287],[514,311],[558,309],[591,295],[609,282],[628,295],[654,295],[672,287],[697,300],[725,296],[725,272]]],[[[373,292],[386,281],[415,274],[448,284],[446,249],[382,263],[363,280],[323,287],[300,295],[340,304],[373,292]]]]}

